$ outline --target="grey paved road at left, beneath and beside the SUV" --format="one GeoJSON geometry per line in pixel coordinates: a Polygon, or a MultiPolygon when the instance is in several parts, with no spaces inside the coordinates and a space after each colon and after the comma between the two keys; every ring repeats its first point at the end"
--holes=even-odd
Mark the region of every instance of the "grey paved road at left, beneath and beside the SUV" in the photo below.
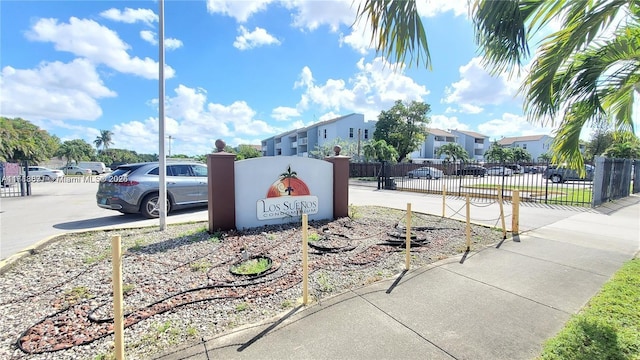
{"type": "MultiPolygon", "coordinates": [[[[159,220],[96,205],[96,177],[86,183],[33,183],[29,197],[0,198],[0,260],[40,240],[92,228],[152,226],[159,220]]],[[[206,221],[207,208],[177,211],[167,223],[206,221]]]]}

